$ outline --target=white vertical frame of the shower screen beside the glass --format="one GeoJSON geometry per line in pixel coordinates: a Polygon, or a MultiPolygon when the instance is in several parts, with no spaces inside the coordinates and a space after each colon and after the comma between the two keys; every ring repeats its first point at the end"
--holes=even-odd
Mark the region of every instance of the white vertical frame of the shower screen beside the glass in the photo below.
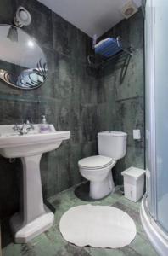
{"type": "Polygon", "coordinates": [[[146,183],[150,215],[157,219],[156,145],[155,145],[155,45],[154,0],[145,7],[145,123],[146,123],[146,183]],[[151,8],[152,6],[152,8],[151,8]]]}

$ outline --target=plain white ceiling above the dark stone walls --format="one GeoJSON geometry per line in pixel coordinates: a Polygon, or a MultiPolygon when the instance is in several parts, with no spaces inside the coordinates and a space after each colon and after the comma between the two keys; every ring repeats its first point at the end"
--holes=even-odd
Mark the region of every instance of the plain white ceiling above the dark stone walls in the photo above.
{"type": "MultiPolygon", "coordinates": [[[[38,0],[92,37],[101,36],[115,26],[123,15],[120,9],[128,0],[38,0]]],[[[133,0],[137,7],[141,0],[133,0]]]]}

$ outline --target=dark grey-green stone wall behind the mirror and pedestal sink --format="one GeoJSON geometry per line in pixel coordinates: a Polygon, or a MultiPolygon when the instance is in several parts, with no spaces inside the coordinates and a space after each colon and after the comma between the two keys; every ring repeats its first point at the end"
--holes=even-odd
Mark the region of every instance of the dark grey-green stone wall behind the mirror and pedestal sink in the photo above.
{"type": "MultiPolygon", "coordinates": [[[[43,154],[42,189],[45,198],[81,182],[77,162],[97,153],[96,71],[87,67],[91,39],[36,0],[0,1],[0,23],[12,24],[18,6],[31,13],[23,29],[36,38],[48,58],[48,79],[39,89],[15,90],[0,81],[0,124],[32,119],[39,123],[46,114],[59,131],[71,131],[70,141],[43,154]]],[[[0,157],[0,216],[18,209],[20,160],[9,163],[0,157]]]]}

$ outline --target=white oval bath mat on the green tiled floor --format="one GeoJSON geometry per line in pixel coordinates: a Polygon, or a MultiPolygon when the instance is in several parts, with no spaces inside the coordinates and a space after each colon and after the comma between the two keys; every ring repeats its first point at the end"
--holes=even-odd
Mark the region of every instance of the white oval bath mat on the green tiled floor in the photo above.
{"type": "Polygon", "coordinates": [[[136,236],[134,221],[126,212],[105,206],[70,208],[60,219],[59,230],[79,247],[125,247],[136,236]]]}

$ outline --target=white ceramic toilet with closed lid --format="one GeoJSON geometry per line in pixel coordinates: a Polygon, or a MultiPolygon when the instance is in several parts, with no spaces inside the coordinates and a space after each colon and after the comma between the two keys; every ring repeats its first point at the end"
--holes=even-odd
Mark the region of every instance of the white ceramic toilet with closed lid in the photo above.
{"type": "Polygon", "coordinates": [[[127,134],[121,131],[98,133],[98,155],[79,160],[81,175],[90,181],[89,195],[100,199],[114,192],[115,184],[111,169],[126,154],[127,134]]]}

